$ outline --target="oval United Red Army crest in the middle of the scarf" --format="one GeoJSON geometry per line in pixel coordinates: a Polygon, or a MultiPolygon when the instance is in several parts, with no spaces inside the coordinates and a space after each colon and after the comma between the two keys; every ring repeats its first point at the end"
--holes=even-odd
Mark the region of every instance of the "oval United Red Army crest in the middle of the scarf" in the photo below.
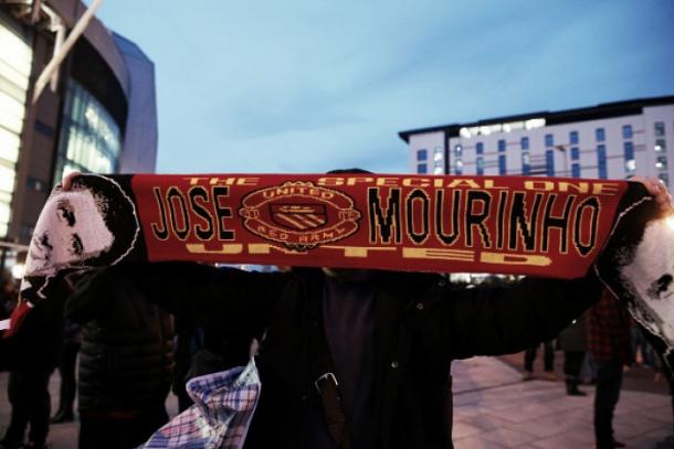
{"type": "Polygon", "coordinates": [[[239,215],[251,233],[301,252],[348,237],[361,216],[350,196],[305,181],[248,194],[239,215]]]}

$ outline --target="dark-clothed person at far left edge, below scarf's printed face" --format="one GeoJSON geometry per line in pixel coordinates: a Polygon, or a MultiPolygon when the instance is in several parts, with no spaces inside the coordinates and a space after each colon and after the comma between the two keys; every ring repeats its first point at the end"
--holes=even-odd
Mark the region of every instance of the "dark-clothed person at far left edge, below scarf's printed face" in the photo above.
{"type": "Polygon", "coordinates": [[[46,447],[51,413],[49,379],[61,357],[63,342],[64,295],[54,289],[51,301],[34,307],[10,341],[8,397],[12,410],[0,442],[3,449],[46,447]],[[29,441],[24,443],[27,429],[29,441]]]}

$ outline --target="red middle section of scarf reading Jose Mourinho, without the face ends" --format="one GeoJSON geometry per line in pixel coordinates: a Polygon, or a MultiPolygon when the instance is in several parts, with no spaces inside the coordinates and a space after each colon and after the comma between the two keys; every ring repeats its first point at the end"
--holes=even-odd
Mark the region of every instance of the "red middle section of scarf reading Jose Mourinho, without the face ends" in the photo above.
{"type": "Polygon", "coordinates": [[[626,184],[386,174],[138,174],[131,181],[152,261],[558,278],[586,275],[626,184]]]}

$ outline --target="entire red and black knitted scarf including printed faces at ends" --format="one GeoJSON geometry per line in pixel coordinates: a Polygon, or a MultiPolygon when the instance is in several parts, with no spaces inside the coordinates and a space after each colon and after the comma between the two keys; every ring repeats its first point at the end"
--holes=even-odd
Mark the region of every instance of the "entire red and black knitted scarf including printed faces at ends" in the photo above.
{"type": "MultiPolygon", "coordinates": [[[[594,269],[674,348],[674,227],[643,185],[393,174],[81,175],[54,189],[12,333],[57,274],[199,260],[556,278],[594,269]]],[[[582,292],[579,292],[582,295],[582,292]]],[[[10,325],[11,323],[11,325],[10,325]]]]}

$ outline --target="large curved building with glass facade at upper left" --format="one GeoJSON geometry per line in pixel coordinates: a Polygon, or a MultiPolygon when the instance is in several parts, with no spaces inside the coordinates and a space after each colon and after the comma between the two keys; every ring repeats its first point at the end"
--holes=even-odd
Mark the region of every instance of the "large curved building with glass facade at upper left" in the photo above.
{"type": "MultiPolygon", "coordinates": [[[[0,0],[0,247],[30,242],[64,172],[154,172],[157,110],[152,62],[80,0],[0,0]],[[84,24],[85,22],[83,22],[84,24]],[[50,86],[36,79],[65,54],[50,86]]],[[[11,252],[1,252],[6,267],[11,252]]]]}

